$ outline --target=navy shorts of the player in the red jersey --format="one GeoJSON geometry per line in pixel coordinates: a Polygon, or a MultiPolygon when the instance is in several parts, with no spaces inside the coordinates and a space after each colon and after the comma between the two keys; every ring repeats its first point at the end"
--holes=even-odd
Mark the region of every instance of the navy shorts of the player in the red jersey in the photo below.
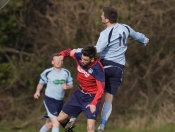
{"type": "Polygon", "coordinates": [[[69,116],[77,117],[82,111],[85,113],[87,119],[96,120],[97,114],[100,107],[100,101],[96,105],[96,111],[91,113],[90,108],[86,108],[88,104],[92,102],[95,94],[84,94],[79,89],[77,89],[68,102],[63,106],[62,111],[69,116]]]}

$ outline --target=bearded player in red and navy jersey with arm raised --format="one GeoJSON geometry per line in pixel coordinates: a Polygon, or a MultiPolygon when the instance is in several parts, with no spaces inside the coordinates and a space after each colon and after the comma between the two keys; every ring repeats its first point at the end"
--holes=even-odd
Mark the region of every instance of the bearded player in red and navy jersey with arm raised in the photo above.
{"type": "Polygon", "coordinates": [[[95,120],[99,111],[100,100],[104,93],[105,74],[101,63],[95,58],[96,48],[86,46],[81,52],[64,50],[63,57],[71,57],[77,66],[79,87],[63,106],[58,121],[64,123],[70,116],[77,117],[82,111],[87,117],[87,131],[95,131],[95,120]]]}

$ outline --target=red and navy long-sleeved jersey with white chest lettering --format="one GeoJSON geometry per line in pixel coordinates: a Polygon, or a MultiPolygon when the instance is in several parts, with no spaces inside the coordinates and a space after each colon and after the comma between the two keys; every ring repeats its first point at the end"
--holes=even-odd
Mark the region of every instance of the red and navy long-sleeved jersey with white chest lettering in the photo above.
{"type": "Polygon", "coordinates": [[[96,105],[103,96],[105,86],[105,73],[101,62],[95,59],[88,67],[81,64],[82,53],[70,56],[71,49],[60,52],[64,57],[71,57],[76,61],[77,80],[79,87],[89,94],[96,94],[91,104],[96,105]]]}

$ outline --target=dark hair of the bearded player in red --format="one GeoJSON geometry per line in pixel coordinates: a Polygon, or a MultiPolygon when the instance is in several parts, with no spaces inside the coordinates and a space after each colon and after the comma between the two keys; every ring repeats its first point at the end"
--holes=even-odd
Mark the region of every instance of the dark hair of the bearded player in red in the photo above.
{"type": "Polygon", "coordinates": [[[89,58],[95,58],[96,54],[97,54],[97,50],[94,46],[86,46],[82,49],[81,53],[84,55],[84,56],[88,56],[89,58]]]}

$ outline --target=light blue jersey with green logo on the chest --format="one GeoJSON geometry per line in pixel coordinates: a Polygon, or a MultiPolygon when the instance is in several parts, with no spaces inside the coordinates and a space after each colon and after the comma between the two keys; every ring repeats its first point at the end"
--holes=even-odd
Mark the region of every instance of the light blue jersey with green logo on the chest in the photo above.
{"type": "Polygon", "coordinates": [[[73,79],[71,77],[70,72],[61,68],[60,71],[54,70],[54,68],[46,69],[41,73],[40,84],[47,84],[45,95],[47,97],[63,100],[65,91],[62,88],[62,84],[66,83],[67,85],[73,84],[73,79]]]}

